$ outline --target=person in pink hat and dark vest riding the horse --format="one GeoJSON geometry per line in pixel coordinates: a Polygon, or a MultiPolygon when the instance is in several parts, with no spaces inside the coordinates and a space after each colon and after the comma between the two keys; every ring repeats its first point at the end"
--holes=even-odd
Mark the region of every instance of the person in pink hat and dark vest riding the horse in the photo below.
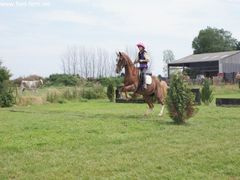
{"type": "Polygon", "coordinates": [[[143,43],[138,43],[137,47],[139,49],[138,56],[136,60],[134,61],[134,64],[139,63],[139,69],[141,71],[141,74],[143,75],[143,88],[147,89],[147,84],[146,84],[146,72],[148,69],[148,62],[149,62],[149,56],[147,54],[147,51],[145,50],[145,46],[143,43]]]}

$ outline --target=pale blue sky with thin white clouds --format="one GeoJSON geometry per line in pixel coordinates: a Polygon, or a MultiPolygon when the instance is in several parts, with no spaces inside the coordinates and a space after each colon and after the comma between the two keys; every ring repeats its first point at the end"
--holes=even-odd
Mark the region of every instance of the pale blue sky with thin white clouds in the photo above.
{"type": "Polygon", "coordinates": [[[109,53],[150,52],[161,74],[163,51],[175,59],[192,54],[192,41],[208,26],[240,40],[240,0],[0,0],[0,59],[13,78],[62,73],[61,56],[71,46],[109,53]]]}

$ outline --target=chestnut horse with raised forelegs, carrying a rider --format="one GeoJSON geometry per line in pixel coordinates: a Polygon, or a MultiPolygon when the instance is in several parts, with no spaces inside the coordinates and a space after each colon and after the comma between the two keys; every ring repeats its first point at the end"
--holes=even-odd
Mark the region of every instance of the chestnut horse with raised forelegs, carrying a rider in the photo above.
{"type": "MultiPolygon", "coordinates": [[[[145,115],[152,112],[153,95],[156,96],[158,103],[162,105],[159,116],[163,115],[165,98],[167,96],[168,85],[165,81],[160,81],[156,76],[151,76],[151,83],[147,85],[147,89],[141,88],[141,80],[139,77],[139,69],[136,68],[127,54],[124,52],[117,53],[116,73],[120,73],[125,69],[124,86],[122,92],[134,92],[143,96],[143,99],[148,104],[148,109],[145,115]]],[[[147,78],[149,79],[149,78],[147,78]]]]}

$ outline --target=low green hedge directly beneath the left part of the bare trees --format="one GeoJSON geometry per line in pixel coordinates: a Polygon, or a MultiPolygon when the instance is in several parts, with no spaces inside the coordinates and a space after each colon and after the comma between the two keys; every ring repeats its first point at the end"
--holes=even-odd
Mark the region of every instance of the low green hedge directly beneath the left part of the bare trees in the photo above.
{"type": "Polygon", "coordinates": [[[77,86],[81,83],[81,78],[70,74],[52,74],[47,79],[49,86],[77,86]]]}

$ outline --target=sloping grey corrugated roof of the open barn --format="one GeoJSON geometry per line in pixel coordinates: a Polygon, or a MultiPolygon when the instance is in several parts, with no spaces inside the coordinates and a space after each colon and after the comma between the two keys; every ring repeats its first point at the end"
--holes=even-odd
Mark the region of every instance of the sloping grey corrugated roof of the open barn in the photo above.
{"type": "Polygon", "coordinates": [[[216,53],[204,53],[204,54],[193,54],[169,64],[182,64],[182,63],[194,63],[194,62],[207,62],[207,61],[219,61],[225,59],[234,54],[238,54],[240,51],[226,51],[226,52],[216,52],[216,53]]]}

